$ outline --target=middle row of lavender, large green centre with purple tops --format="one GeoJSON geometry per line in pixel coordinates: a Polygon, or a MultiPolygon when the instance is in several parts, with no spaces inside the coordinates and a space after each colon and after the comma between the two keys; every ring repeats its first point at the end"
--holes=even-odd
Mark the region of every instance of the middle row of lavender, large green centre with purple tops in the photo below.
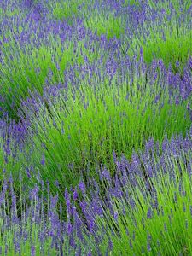
{"type": "Polygon", "coordinates": [[[96,176],[101,164],[113,172],[113,151],[131,159],[150,137],[160,145],[165,134],[168,139],[179,133],[185,137],[192,119],[191,60],[183,78],[166,70],[162,61],[148,68],[142,57],[123,61],[68,68],[65,83],[46,84],[42,95],[31,92],[21,102],[19,122],[3,113],[4,175],[12,172],[17,179],[21,170],[32,183],[40,176],[54,191],[60,188],[62,197],[66,187],[96,176]]]}

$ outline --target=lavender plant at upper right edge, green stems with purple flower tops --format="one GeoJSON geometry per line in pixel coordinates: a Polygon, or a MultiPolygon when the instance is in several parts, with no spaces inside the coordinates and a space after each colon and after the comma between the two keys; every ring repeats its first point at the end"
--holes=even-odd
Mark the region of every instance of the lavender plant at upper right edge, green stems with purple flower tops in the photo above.
{"type": "MultiPolygon", "coordinates": [[[[132,38],[129,36],[127,39],[128,54],[138,54],[142,47],[147,64],[154,59],[162,59],[166,67],[172,65],[172,71],[182,73],[192,51],[189,17],[188,14],[177,18],[173,11],[167,15],[163,9],[162,13],[153,15],[153,22],[146,21],[137,30],[132,27],[132,38]]],[[[123,46],[124,50],[127,44],[123,46]]]]}

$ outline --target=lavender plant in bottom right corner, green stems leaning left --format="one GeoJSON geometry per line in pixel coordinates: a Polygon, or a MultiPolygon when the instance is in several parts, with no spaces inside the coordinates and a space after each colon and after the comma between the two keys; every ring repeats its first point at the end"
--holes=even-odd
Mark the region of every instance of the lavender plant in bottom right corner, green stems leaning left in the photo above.
{"type": "Polygon", "coordinates": [[[107,199],[96,189],[86,209],[94,212],[97,230],[106,232],[102,253],[191,253],[191,137],[165,140],[162,154],[154,148],[151,140],[131,162],[116,160],[114,187],[108,170],[100,171],[107,199]]]}

